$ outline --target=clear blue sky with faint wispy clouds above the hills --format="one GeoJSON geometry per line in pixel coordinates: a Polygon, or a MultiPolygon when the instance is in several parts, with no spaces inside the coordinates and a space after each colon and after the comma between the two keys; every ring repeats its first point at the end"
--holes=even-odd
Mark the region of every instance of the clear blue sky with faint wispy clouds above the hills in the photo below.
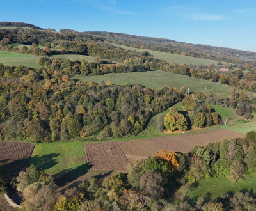
{"type": "Polygon", "coordinates": [[[1,21],[256,52],[256,1],[1,0],[1,21]]]}

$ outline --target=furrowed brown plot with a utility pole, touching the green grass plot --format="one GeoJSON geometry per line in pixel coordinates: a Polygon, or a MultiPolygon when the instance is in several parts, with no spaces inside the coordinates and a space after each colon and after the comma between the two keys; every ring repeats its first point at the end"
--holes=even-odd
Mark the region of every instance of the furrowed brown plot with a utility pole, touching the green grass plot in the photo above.
{"type": "Polygon", "coordinates": [[[117,142],[111,142],[110,151],[108,143],[84,144],[84,152],[90,171],[127,171],[129,160],[117,142]]]}

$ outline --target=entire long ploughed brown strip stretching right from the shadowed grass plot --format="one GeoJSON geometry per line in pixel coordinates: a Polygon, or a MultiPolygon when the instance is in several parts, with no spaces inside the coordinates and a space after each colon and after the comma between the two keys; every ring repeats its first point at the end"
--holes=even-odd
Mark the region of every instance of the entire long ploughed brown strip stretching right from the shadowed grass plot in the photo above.
{"type": "Polygon", "coordinates": [[[241,137],[245,134],[231,130],[218,129],[195,134],[155,137],[148,139],[134,139],[108,143],[86,143],[84,151],[90,171],[127,171],[129,162],[137,159],[147,159],[159,150],[189,152],[195,145],[205,146],[224,138],[241,137]]]}

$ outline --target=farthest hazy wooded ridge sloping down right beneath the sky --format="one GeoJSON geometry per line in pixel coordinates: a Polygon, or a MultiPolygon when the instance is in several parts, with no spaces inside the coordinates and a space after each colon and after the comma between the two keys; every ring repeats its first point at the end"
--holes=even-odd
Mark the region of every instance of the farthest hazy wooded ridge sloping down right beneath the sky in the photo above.
{"type": "MultiPolygon", "coordinates": [[[[215,56],[216,59],[220,58],[221,56],[226,56],[232,59],[239,58],[248,61],[256,61],[256,52],[241,51],[236,49],[230,49],[227,47],[192,44],[185,42],[177,42],[175,40],[169,40],[164,38],[152,38],[147,36],[136,36],[106,31],[85,31],[84,33],[90,35],[97,35],[108,42],[113,42],[120,45],[127,45],[129,47],[141,48],[141,46],[143,45],[150,45],[150,48],[148,47],[148,49],[155,51],[170,52],[175,54],[179,54],[178,51],[186,51],[192,54],[211,54],[212,56],[215,56]],[[157,47],[161,48],[157,50],[157,47]]],[[[145,49],[145,46],[142,48],[145,49]]]]}

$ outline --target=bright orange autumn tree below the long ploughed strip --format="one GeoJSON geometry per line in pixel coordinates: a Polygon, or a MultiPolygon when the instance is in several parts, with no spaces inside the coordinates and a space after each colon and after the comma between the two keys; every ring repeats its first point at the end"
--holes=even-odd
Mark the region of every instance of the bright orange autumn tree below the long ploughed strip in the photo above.
{"type": "Polygon", "coordinates": [[[156,152],[156,157],[158,157],[159,160],[167,162],[171,171],[175,171],[175,168],[179,166],[176,155],[177,153],[173,151],[167,152],[165,150],[159,150],[159,152],[156,152]]]}

